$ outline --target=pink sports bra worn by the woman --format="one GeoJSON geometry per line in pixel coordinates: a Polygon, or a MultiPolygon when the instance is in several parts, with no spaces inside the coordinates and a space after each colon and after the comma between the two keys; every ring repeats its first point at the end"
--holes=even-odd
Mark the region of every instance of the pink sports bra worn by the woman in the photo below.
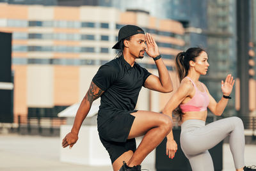
{"type": "Polygon", "coordinates": [[[204,93],[202,91],[198,90],[196,87],[196,84],[191,80],[191,78],[188,78],[192,84],[195,87],[195,95],[191,100],[189,100],[187,103],[180,104],[180,109],[183,113],[185,112],[199,112],[199,111],[205,111],[207,110],[207,106],[209,105],[209,96],[204,88],[204,93]]]}

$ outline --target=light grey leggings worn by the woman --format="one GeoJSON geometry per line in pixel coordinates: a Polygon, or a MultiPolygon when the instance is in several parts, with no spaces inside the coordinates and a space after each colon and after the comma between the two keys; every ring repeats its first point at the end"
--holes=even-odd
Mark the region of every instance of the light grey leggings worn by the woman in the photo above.
{"type": "Polygon", "coordinates": [[[228,117],[205,125],[190,119],[182,123],[180,146],[193,171],[214,171],[208,149],[230,135],[229,144],[235,167],[244,167],[244,126],[239,117],[228,117]]]}

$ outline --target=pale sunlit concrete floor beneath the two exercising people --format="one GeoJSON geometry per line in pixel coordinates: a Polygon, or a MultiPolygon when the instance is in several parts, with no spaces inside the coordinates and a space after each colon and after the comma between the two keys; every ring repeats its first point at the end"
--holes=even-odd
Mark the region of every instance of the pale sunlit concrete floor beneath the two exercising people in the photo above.
{"type": "MultiPolygon", "coordinates": [[[[90,167],[61,163],[60,145],[59,137],[0,134],[0,170],[112,170],[110,165],[106,167],[90,167]]],[[[246,145],[244,154],[246,165],[256,165],[255,153],[256,145],[246,145]]],[[[154,165],[143,165],[143,168],[156,171],[154,165]]],[[[223,145],[223,170],[235,170],[228,144],[223,145]]]]}

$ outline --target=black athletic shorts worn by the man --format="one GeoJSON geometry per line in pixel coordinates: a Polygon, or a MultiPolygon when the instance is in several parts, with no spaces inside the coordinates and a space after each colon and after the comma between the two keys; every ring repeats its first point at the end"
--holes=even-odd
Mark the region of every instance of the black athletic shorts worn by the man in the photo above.
{"type": "Polygon", "coordinates": [[[135,138],[127,139],[135,118],[131,113],[134,112],[137,110],[117,114],[98,128],[100,141],[108,151],[112,163],[124,152],[136,151],[135,138]]]}

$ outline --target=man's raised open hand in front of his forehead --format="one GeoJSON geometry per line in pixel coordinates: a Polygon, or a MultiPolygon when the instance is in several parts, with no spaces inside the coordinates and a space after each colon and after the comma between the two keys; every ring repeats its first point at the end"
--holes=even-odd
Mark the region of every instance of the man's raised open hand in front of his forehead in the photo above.
{"type": "Polygon", "coordinates": [[[147,42],[147,48],[146,48],[146,52],[148,54],[148,56],[150,57],[157,57],[159,56],[159,50],[156,44],[156,41],[154,40],[154,38],[149,34],[146,33],[146,42],[147,42]]]}

